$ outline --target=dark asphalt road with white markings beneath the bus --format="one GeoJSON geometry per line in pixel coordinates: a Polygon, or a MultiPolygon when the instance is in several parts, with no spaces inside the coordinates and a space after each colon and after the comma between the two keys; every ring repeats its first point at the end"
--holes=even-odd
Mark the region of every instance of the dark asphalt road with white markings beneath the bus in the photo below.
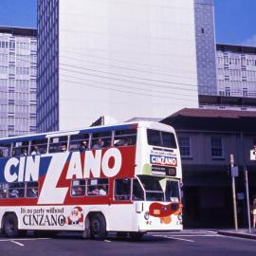
{"type": "Polygon", "coordinates": [[[104,241],[82,240],[78,234],[61,234],[56,238],[9,239],[0,236],[1,256],[254,256],[256,240],[218,235],[209,230],[148,233],[139,241],[110,235],[104,241]]]}

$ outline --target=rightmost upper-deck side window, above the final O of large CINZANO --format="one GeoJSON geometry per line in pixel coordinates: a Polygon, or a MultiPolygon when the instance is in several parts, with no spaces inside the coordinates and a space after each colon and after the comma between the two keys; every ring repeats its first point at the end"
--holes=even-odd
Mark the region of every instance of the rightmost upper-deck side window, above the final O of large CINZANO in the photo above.
{"type": "Polygon", "coordinates": [[[137,141],[137,130],[127,129],[127,130],[116,130],[114,137],[114,146],[132,146],[135,145],[137,141]]]}

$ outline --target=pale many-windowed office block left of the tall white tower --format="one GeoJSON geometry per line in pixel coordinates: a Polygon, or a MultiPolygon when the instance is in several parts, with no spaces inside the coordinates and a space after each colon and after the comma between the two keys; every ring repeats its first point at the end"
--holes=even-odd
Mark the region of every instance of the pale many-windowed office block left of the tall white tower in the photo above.
{"type": "Polygon", "coordinates": [[[36,131],[36,33],[0,27],[0,137],[36,131]]]}

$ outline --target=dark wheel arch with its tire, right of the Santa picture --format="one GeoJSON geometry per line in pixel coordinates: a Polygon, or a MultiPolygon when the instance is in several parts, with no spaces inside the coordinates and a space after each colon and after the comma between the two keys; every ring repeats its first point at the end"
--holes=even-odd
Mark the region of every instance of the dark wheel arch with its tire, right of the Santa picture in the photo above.
{"type": "Polygon", "coordinates": [[[101,211],[91,211],[85,218],[85,228],[89,227],[90,237],[96,240],[102,240],[106,237],[106,219],[101,211]]]}

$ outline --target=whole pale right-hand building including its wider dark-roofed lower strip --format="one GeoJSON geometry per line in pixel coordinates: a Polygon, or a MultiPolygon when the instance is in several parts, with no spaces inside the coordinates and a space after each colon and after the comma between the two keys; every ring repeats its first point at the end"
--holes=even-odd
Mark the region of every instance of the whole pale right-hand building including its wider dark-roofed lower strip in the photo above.
{"type": "Polygon", "coordinates": [[[216,45],[217,93],[199,95],[199,107],[255,111],[256,47],[216,45]]]}

